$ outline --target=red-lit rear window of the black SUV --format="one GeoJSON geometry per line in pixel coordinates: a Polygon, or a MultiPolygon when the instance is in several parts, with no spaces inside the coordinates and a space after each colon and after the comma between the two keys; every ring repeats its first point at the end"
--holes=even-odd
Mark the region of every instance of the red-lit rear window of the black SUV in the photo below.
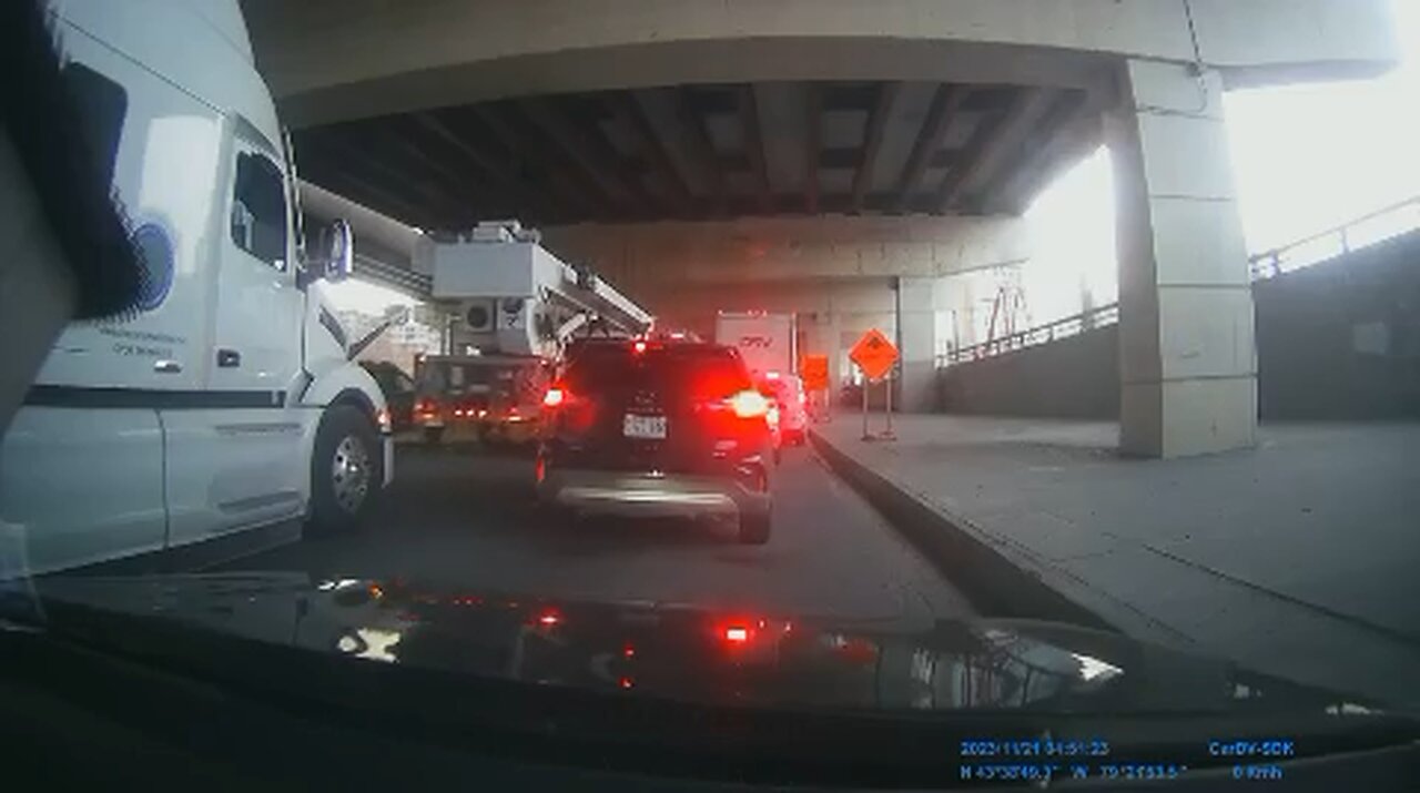
{"type": "Polygon", "coordinates": [[[666,394],[721,397],[750,387],[740,353],[721,346],[667,345],[633,352],[630,345],[575,350],[564,377],[572,393],[652,389],[666,394]]]}

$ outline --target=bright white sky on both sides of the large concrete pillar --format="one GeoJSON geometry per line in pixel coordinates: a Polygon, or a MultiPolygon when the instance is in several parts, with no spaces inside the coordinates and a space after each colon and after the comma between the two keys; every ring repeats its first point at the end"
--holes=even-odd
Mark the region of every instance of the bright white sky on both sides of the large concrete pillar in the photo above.
{"type": "MultiPolygon", "coordinates": [[[[1383,77],[1224,96],[1250,253],[1420,194],[1420,3],[1394,0],[1403,62],[1383,77]]],[[[1032,323],[1116,298],[1113,182],[1100,149],[1025,213],[1035,258],[1022,274],[1032,323]]],[[[1420,213],[1416,213],[1420,221],[1420,213]]]]}

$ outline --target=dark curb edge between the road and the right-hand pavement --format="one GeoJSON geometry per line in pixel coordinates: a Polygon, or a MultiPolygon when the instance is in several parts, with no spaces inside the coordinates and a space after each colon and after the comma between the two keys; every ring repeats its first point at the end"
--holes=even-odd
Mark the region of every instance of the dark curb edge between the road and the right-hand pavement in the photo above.
{"type": "Polygon", "coordinates": [[[1015,565],[909,488],[853,460],[818,431],[811,428],[808,436],[828,467],[873,505],[981,614],[1119,631],[1113,623],[1015,565]]]}

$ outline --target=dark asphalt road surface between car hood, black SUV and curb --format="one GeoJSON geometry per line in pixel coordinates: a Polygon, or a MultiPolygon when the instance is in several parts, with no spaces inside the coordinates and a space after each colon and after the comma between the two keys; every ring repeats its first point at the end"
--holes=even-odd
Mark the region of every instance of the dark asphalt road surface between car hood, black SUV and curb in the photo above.
{"type": "Polygon", "coordinates": [[[476,447],[396,450],[396,482],[361,533],[311,538],[226,565],[314,577],[588,600],[754,609],[922,628],[970,614],[944,582],[812,450],[788,448],[764,546],[733,522],[581,519],[534,509],[530,458],[476,447]]]}

